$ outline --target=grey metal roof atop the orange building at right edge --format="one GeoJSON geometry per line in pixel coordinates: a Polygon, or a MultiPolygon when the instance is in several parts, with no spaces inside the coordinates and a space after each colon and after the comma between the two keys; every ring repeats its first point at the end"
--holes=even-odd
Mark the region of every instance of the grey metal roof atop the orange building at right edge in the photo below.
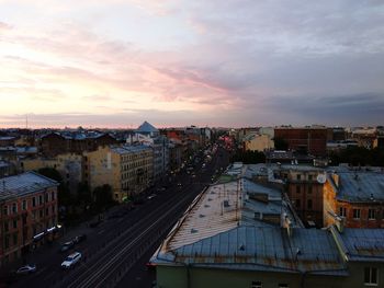
{"type": "Polygon", "coordinates": [[[348,201],[383,201],[384,174],[376,172],[341,172],[337,198],[348,201]]]}

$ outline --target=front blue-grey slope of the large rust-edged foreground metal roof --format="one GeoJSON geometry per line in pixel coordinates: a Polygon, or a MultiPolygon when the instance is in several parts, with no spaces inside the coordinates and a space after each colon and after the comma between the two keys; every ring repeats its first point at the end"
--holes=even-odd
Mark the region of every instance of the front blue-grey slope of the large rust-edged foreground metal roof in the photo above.
{"type": "Polygon", "coordinates": [[[337,246],[325,230],[294,229],[290,238],[280,227],[244,226],[181,246],[169,254],[172,256],[159,254],[153,261],[233,269],[347,274],[337,246]]]}

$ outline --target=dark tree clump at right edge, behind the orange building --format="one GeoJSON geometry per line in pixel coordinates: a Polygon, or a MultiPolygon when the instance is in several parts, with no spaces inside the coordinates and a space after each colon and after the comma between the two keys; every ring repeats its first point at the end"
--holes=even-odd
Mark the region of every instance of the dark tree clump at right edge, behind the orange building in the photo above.
{"type": "Polygon", "coordinates": [[[366,149],[363,147],[350,147],[340,152],[330,153],[332,165],[348,163],[353,166],[384,166],[384,149],[366,149]]]}

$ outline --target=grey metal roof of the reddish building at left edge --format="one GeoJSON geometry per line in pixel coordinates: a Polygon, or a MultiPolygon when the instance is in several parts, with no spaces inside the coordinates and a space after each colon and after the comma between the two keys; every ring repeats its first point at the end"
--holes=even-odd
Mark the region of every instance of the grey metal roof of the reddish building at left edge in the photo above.
{"type": "Polygon", "coordinates": [[[15,176],[0,178],[0,199],[19,197],[57,185],[58,183],[54,180],[35,172],[26,172],[15,176]]]}

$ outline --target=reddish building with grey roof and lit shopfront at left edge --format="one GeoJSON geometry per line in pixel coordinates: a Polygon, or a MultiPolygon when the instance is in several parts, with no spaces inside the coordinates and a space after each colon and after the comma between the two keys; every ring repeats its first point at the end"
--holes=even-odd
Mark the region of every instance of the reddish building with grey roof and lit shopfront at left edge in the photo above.
{"type": "Polygon", "coordinates": [[[27,172],[0,180],[0,263],[52,240],[57,226],[58,183],[27,172]]]}

